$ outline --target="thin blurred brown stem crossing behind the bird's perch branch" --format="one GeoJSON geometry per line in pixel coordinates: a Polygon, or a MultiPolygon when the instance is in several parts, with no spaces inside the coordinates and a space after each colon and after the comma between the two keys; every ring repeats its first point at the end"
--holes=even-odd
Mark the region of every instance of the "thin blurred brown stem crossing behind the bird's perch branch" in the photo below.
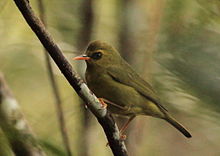
{"type": "MultiPolygon", "coordinates": [[[[43,24],[46,27],[47,23],[46,23],[46,17],[45,17],[45,8],[44,8],[42,0],[38,0],[38,8],[39,8],[39,12],[40,12],[40,19],[42,20],[43,24]]],[[[57,111],[60,132],[62,135],[62,139],[63,139],[63,143],[65,146],[66,152],[67,152],[68,156],[71,156],[72,153],[71,153],[71,148],[70,148],[70,142],[69,142],[69,138],[68,138],[66,122],[65,122],[65,118],[64,118],[63,107],[62,107],[62,102],[61,102],[61,97],[60,97],[58,85],[57,85],[55,77],[53,75],[53,69],[52,69],[52,65],[51,65],[50,56],[46,50],[44,50],[44,54],[45,54],[45,59],[46,59],[48,75],[49,75],[51,87],[52,87],[54,98],[55,98],[55,106],[56,106],[56,111],[57,111]]]]}

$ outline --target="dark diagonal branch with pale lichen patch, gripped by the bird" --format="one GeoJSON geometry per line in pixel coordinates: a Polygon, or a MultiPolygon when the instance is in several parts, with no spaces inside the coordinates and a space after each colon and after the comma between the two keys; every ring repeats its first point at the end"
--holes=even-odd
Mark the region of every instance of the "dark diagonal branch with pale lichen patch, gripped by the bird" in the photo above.
{"type": "Polygon", "coordinates": [[[57,64],[60,71],[66,77],[67,81],[77,92],[77,94],[87,103],[88,108],[96,116],[107,136],[109,146],[115,156],[127,156],[127,149],[123,141],[120,140],[118,127],[112,116],[106,109],[101,108],[97,97],[89,90],[83,80],[73,71],[72,66],[63,56],[61,50],[53,41],[52,37],[46,31],[42,22],[36,17],[27,0],[14,0],[18,9],[24,16],[26,22],[35,32],[38,39],[48,51],[50,56],[57,64]]]}

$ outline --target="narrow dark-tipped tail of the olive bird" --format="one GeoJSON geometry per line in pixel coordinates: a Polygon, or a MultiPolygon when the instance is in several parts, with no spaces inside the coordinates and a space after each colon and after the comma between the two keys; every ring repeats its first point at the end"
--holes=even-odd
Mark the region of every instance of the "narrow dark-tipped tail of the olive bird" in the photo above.
{"type": "Polygon", "coordinates": [[[189,131],[186,130],[186,128],[183,125],[181,125],[178,121],[176,121],[176,119],[174,119],[172,116],[166,114],[165,120],[169,122],[173,127],[178,129],[185,137],[192,137],[189,131]]]}

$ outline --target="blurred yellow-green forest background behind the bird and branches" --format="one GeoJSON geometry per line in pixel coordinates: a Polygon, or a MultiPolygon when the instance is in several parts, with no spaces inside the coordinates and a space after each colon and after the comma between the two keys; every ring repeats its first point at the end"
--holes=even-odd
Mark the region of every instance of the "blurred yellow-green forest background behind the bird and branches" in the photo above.
{"type": "MultiPolygon", "coordinates": [[[[30,0],[35,12],[39,1],[30,0]]],[[[138,116],[129,126],[131,156],[220,155],[219,0],[43,0],[48,31],[72,57],[92,40],[114,45],[151,82],[164,106],[192,133],[138,116]]],[[[48,155],[67,155],[42,45],[13,1],[0,1],[0,71],[48,155]]],[[[110,156],[101,126],[52,62],[74,156],[110,156]]],[[[122,123],[123,119],[117,122],[122,123]]]]}

